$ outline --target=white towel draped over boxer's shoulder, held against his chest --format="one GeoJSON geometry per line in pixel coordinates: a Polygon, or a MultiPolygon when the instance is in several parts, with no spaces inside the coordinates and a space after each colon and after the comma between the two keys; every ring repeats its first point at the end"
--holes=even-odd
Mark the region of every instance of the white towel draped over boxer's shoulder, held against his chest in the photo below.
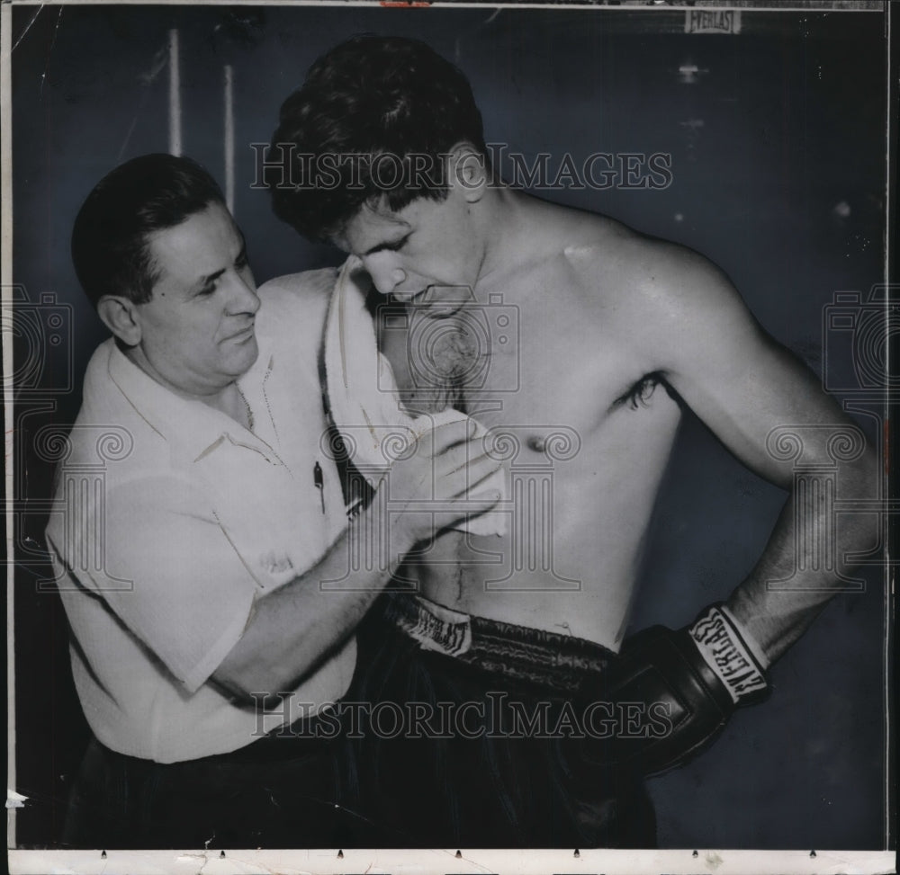
{"type": "MultiPolygon", "coordinates": [[[[447,408],[434,415],[410,416],[400,405],[400,391],[390,362],[378,352],[375,328],[365,299],[372,281],[362,262],[351,255],[338,272],[325,327],[325,373],[331,416],[352,449],[352,460],[363,473],[390,469],[403,445],[410,445],[432,428],[471,420],[473,440],[486,430],[477,420],[447,408]],[[360,465],[362,463],[362,466],[360,465]]],[[[470,497],[500,492],[507,495],[503,469],[492,474],[470,497]]],[[[506,513],[497,510],[461,522],[457,528],[477,535],[503,534],[506,513]]]]}

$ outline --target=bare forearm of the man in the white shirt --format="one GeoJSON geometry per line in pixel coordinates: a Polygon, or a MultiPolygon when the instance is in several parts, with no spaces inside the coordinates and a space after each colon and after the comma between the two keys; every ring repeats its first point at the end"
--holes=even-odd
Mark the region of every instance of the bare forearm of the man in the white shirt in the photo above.
{"type": "Polygon", "coordinates": [[[350,522],[325,558],[290,583],[260,598],[238,644],[213,679],[240,696],[292,689],[356,629],[391,579],[414,538],[401,520],[388,525],[374,500],[350,522]],[[379,549],[386,543],[382,561],[379,549]],[[347,572],[353,550],[376,557],[374,567],[347,572]],[[324,586],[345,581],[340,588],[324,586]]]}

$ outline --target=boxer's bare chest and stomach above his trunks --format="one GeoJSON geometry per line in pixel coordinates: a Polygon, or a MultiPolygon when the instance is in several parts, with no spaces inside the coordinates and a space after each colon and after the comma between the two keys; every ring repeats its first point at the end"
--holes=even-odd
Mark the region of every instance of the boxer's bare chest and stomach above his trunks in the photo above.
{"type": "Polygon", "coordinates": [[[385,309],[379,335],[405,403],[476,417],[509,473],[507,535],[445,534],[410,581],[466,612],[609,644],[679,409],[615,295],[585,300],[571,281],[548,264],[453,312],[385,309]]]}

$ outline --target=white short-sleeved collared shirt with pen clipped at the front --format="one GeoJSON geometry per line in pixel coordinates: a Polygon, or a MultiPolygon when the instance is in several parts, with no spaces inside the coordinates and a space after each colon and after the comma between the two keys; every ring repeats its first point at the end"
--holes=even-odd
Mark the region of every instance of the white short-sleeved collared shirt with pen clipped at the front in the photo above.
{"type": "Polygon", "coordinates": [[[333,280],[260,289],[259,357],[238,380],[252,431],[175,395],[112,340],[88,365],[47,539],[78,695],[113,750],[160,763],[226,753],[347,691],[353,640],[266,715],[210,683],[255,600],[314,566],[347,524],[322,439],[333,280]]]}

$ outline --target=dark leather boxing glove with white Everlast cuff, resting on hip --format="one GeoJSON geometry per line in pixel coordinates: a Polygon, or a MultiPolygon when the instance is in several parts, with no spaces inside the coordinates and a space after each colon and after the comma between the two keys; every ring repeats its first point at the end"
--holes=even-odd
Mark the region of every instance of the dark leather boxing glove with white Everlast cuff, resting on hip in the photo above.
{"type": "Polygon", "coordinates": [[[644,775],[682,765],[713,741],[737,707],[768,695],[767,667],[761,648],[721,605],[685,629],[644,629],[626,640],[592,692],[616,731],[593,752],[587,742],[582,755],[644,775]]]}

